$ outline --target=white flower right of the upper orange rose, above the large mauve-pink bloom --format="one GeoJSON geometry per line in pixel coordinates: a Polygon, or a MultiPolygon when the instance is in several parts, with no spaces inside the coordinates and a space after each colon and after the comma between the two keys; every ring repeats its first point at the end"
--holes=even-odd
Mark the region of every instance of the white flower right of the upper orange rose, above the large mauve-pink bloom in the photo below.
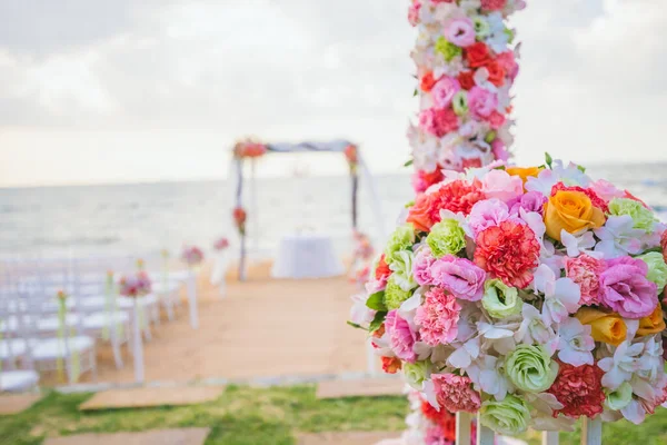
{"type": "Polygon", "coordinates": [[[617,258],[627,254],[637,255],[641,253],[643,230],[633,228],[635,221],[629,215],[610,216],[607,222],[595,235],[600,241],[595,246],[595,251],[605,258],[617,258]]]}

